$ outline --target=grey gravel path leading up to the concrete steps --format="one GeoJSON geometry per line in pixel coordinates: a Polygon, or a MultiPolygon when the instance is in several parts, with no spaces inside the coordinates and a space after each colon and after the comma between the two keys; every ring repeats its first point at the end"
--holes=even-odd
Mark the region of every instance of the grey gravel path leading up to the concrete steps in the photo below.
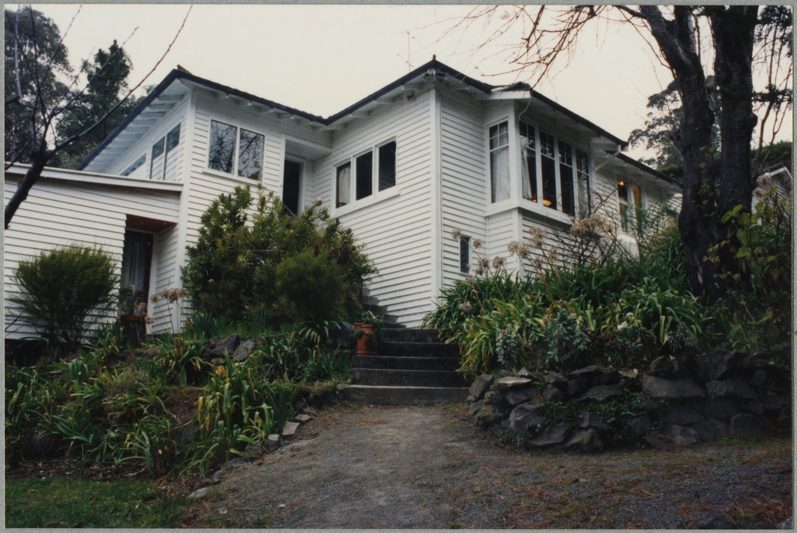
{"type": "MultiPolygon", "coordinates": [[[[741,527],[791,516],[791,441],[522,452],[464,406],[335,406],[227,474],[190,527],[741,527]]],[[[761,525],[761,524],[759,524],[761,525]]]]}

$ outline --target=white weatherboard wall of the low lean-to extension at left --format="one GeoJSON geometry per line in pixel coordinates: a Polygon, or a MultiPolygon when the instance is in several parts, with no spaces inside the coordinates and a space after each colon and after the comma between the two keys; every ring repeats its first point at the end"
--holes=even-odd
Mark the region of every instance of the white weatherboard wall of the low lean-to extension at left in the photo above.
{"type": "MultiPolygon", "coordinates": [[[[18,182],[17,175],[6,174],[6,203],[18,182]]],[[[111,254],[116,261],[116,273],[120,274],[127,215],[176,222],[178,206],[176,193],[41,178],[5,233],[6,327],[18,315],[7,298],[19,293],[14,270],[20,261],[61,245],[97,245],[111,254]]],[[[153,268],[157,265],[153,264],[153,268]]],[[[18,320],[6,335],[16,339],[35,335],[35,331],[18,320]]]]}

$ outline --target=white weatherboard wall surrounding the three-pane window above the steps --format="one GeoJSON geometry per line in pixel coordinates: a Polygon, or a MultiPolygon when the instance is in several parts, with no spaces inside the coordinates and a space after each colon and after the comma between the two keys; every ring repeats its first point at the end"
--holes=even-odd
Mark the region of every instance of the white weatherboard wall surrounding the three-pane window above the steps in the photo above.
{"type": "Polygon", "coordinates": [[[422,93],[336,131],[332,153],[316,161],[309,187],[333,216],[354,231],[379,268],[379,275],[368,284],[371,296],[407,326],[420,324],[431,310],[432,98],[434,92],[422,93]],[[379,202],[359,209],[355,202],[354,211],[336,214],[332,209],[336,166],[394,138],[398,195],[391,189],[378,191],[374,199],[381,196],[379,202]]]}

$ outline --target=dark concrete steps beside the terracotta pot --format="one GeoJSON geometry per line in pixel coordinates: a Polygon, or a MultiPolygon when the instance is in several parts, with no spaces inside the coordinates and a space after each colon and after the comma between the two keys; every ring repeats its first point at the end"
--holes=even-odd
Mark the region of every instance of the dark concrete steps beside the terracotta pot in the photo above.
{"type": "MultiPolygon", "coordinates": [[[[377,304],[368,305],[374,313],[374,308],[381,308],[377,304]]],[[[440,342],[437,330],[386,324],[378,352],[378,355],[355,356],[347,399],[372,404],[420,405],[463,402],[467,398],[465,379],[456,372],[459,347],[440,342]]]]}

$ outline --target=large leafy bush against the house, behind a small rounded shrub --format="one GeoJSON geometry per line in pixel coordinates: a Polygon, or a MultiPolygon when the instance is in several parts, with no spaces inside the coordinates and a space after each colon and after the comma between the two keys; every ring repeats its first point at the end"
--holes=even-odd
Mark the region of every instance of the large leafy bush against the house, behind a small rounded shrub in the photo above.
{"type": "Polygon", "coordinates": [[[194,312],[235,321],[249,310],[265,309],[277,315],[277,322],[290,321],[281,316],[277,266],[308,250],[340,268],[342,305],[350,315],[359,312],[359,284],[375,268],[351,229],[340,227],[320,202],[292,217],[273,193],[263,194],[260,187],[257,193],[252,198],[248,186],[236,187],[232,194],[220,195],[202,215],[197,244],[188,249],[183,268],[194,312]]]}

